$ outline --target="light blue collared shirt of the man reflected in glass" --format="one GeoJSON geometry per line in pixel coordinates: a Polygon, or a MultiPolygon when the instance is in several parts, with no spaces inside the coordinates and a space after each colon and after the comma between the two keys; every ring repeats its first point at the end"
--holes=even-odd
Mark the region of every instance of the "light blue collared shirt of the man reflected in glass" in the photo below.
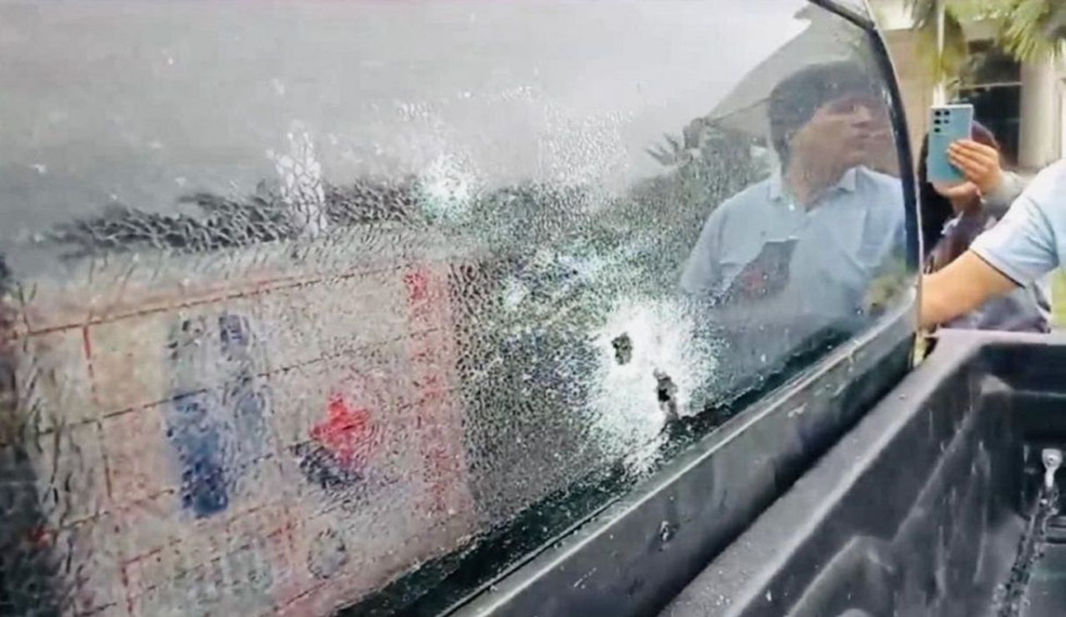
{"type": "Polygon", "coordinates": [[[723,294],[764,246],[794,241],[782,309],[829,320],[854,315],[878,271],[893,254],[904,255],[904,221],[901,181],[867,167],[849,171],[811,208],[788,195],[780,176],[772,177],[710,215],[681,288],[728,302],[723,294]]]}

